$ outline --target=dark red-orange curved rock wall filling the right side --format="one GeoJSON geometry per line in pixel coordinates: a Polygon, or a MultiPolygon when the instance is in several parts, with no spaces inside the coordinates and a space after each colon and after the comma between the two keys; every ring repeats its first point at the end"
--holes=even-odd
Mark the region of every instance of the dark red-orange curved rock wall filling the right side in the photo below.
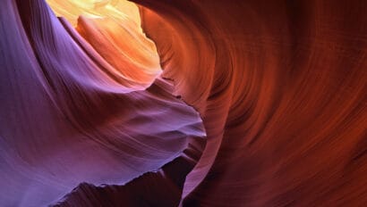
{"type": "Polygon", "coordinates": [[[140,1],[208,143],[187,206],[367,203],[364,1],[140,1]]]}

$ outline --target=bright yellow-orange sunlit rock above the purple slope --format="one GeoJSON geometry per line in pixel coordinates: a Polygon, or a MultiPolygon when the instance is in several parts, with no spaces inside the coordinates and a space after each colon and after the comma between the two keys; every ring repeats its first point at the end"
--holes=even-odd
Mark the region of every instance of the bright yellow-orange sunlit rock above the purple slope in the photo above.
{"type": "Polygon", "coordinates": [[[126,0],[47,0],[110,65],[143,87],[161,72],[155,44],[141,29],[139,7],[126,0]]]}

